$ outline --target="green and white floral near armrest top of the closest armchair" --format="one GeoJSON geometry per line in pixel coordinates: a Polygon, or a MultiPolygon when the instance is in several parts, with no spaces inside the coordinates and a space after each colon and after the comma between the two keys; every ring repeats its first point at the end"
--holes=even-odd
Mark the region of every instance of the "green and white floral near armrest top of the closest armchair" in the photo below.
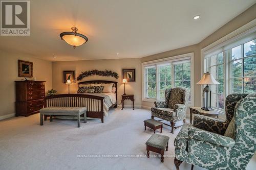
{"type": "Polygon", "coordinates": [[[190,139],[197,139],[212,144],[220,145],[222,147],[233,147],[235,143],[234,139],[231,137],[222,136],[220,134],[208,132],[195,127],[189,128],[188,137],[190,139]]]}

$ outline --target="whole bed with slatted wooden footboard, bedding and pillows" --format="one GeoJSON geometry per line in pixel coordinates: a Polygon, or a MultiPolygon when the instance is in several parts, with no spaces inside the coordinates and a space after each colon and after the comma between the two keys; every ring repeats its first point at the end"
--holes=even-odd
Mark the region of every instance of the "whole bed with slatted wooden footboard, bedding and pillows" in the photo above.
{"type": "MultiPolygon", "coordinates": [[[[56,94],[46,96],[44,107],[87,107],[87,117],[100,118],[104,122],[104,116],[108,116],[110,108],[117,107],[117,82],[106,80],[92,80],[78,83],[83,85],[97,85],[113,83],[115,93],[83,93],[83,94],[56,94]]],[[[75,119],[75,117],[58,116],[61,119],[75,119]]],[[[45,116],[45,120],[47,116],[45,116]]]]}

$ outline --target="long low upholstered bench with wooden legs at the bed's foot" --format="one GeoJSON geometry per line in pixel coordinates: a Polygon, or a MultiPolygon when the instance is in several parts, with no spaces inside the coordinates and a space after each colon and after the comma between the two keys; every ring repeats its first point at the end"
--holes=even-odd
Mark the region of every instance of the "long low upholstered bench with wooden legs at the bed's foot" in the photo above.
{"type": "Polygon", "coordinates": [[[77,127],[80,127],[80,115],[84,114],[84,123],[87,122],[86,107],[45,107],[40,111],[40,125],[44,125],[43,115],[50,115],[50,122],[52,122],[52,116],[77,116],[77,127]]]}

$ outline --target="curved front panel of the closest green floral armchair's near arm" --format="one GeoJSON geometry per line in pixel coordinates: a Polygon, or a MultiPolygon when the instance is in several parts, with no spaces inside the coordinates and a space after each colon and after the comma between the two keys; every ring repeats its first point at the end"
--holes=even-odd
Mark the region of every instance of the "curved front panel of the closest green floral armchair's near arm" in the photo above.
{"type": "Polygon", "coordinates": [[[192,128],[193,125],[185,123],[178,135],[176,136],[174,140],[174,146],[175,148],[186,150],[187,148],[187,141],[188,141],[188,130],[189,128],[192,128]]]}

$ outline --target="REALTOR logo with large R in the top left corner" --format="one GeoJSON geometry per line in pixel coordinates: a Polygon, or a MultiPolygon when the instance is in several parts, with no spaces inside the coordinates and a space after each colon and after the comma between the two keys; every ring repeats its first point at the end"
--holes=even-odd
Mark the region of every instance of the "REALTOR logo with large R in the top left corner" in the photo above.
{"type": "Polygon", "coordinates": [[[30,35],[30,1],[0,1],[1,36],[30,35]]]}

